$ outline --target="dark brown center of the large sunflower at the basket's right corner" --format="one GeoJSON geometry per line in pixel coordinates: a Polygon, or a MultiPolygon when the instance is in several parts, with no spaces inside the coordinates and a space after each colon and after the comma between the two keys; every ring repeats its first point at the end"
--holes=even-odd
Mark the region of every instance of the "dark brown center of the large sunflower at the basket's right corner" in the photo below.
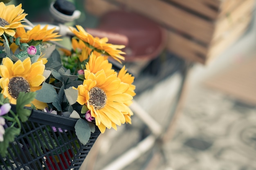
{"type": "Polygon", "coordinates": [[[107,103],[106,93],[99,87],[94,87],[89,91],[89,104],[92,105],[95,110],[102,109],[107,103]]]}

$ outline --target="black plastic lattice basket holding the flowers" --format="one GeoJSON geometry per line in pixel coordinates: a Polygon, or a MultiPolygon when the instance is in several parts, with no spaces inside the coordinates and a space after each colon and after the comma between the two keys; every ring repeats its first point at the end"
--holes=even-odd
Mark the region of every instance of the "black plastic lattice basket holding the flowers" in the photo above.
{"type": "Polygon", "coordinates": [[[78,170],[100,131],[96,126],[83,145],[76,137],[76,121],[32,110],[20,135],[9,144],[7,156],[0,155],[0,170],[78,170]]]}

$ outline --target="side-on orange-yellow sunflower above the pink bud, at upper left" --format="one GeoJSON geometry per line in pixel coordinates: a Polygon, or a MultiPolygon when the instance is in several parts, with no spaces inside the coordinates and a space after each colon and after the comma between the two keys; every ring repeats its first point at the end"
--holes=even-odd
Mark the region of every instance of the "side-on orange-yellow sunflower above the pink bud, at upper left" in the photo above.
{"type": "Polygon", "coordinates": [[[22,43],[28,43],[31,40],[42,40],[43,42],[46,41],[60,41],[61,39],[58,39],[61,35],[58,35],[58,33],[53,33],[55,28],[47,30],[48,25],[43,27],[43,29],[40,28],[40,24],[35,26],[33,29],[25,31],[23,27],[20,27],[16,30],[15,38],[20,37],[20,42],[22,43]]]}

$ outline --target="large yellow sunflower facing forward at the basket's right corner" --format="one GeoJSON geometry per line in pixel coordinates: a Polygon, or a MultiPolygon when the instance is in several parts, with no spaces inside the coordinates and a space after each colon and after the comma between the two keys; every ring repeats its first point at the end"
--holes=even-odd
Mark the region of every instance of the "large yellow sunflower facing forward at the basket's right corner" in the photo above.
{"type": "Polygon", "coordinates": [[[132,100],[132,96],[124,93],[129,84],[121,82],[117,74],[106,76],[102,69],[97,73],[85,70],[85,80],[78,88],[77,102],[86,105],[95,118],[99,130],[104,133],[106,128],[114,128],[126,122],[122,112],[128,112],[126,102],[132,100]]]}

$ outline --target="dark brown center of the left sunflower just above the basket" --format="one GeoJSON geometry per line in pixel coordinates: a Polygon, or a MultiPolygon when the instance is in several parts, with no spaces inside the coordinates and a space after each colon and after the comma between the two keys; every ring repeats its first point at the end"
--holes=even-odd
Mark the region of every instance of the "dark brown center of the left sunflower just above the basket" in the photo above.
{"type": "Polygon", "coordinates": [[[8,93],[11,97],[17,99],[20,92],[30,92],[29,83],[23,77],[12,77],[8,84],[8,93]]]}

